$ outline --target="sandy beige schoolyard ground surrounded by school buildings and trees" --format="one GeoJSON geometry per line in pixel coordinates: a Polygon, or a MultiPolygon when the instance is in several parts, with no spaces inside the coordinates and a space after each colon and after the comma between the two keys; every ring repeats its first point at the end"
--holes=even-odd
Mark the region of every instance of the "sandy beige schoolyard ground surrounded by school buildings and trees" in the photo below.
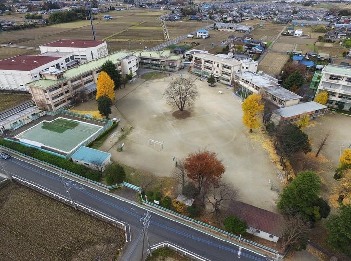
{"type": "MultiPolygon", "coordinates": [[[[163,97],[171,80],[172,77],[139,78],[118,90],[116,107],[110,117],[120,118],[120,127],[124,130],[131,126],[133,130],[123,141],[123,152],[117,152],[119,143],[113,145],[109,140],[100,149],[110,152],[112,161],[159,176],[171,175],[174,157],[181,159],[202,149],[214,151],[226,167],[224,177],[241,188],[241,201],[276,211],[278,194],[270,190],[269,184],[272,180],[280,185],[276,180],[276,165],[253,139],[256,134],[249,134],[243,126],[241,103],[232,94],[233,90],[222,84],[210,87],[206,81],[197,79],[195,83],[201,96],[189,117],[177,119],[172,116],[176,110],[168,106],[163,97]],[[163,149],[157,151],[149,147],[149,139],[162,142],[163,149]]],[[[75,109],[96,109],[96,104],[89,101],[75,109]]]]}

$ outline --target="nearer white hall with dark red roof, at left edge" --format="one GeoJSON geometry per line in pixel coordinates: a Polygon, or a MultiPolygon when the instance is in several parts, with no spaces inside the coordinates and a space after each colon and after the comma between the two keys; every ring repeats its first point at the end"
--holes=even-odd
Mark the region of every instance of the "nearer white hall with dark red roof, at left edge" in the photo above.
{"type": "Polygon", "coordinates": [[[0,90],[28,91],[25,84],[41,78],[40,71],[67,68],[70,56],[17,55],[0,60],[0,90]]]}

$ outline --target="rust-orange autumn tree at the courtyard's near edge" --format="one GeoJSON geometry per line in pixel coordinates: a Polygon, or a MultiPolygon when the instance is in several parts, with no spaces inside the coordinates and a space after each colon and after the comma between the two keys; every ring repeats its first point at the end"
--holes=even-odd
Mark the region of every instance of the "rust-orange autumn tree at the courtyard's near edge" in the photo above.
{"type": "Polygon", "coordinates": [[[222,161],[218,160],[215,152],[204,150],[189,154],[184,160],[184,167],[205,205],[207,190],[211,185],[218,184],[225,172],[222,161]]]}

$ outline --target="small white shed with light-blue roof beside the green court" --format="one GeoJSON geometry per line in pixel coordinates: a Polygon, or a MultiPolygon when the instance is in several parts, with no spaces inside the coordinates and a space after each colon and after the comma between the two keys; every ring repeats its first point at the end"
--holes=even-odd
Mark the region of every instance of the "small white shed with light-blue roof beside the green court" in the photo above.
{"type": "Polygon", "coordinates": [[[72,155],[72,161],[88,168],[104,171],[111,164],[111,153],[81,146],[72,155]]]}

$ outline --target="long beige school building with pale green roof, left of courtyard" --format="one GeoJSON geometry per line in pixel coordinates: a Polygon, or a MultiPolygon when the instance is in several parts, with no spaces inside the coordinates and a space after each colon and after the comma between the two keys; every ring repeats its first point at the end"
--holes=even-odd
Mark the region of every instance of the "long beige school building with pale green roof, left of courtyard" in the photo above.
{"type": "Polygon", "coordinates": [[[137,57],[130,52],[116,52],[67,70],[50,67],[40,72],[42,79],[26,85],[38,107],[56,111],[77,100],[94,99],[100,67],[107,60],[111,60],[121,73],[128,74],[132,68],[133,74],[137,74],[137,57]]]}

